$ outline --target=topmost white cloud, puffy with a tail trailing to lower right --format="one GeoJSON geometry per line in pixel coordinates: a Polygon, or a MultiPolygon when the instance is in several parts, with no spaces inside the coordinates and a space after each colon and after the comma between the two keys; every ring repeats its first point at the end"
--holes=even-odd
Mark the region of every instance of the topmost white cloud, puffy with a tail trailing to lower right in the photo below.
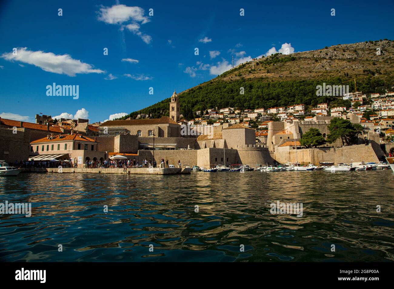
{"type": "Polygon", "coordinates": [[[145,24],[150,20],[149,17],[145,16],[145,11],[138,6],[126,6],[123,4],[113,5],[112,7],[102,7],[99,11],[98,20],[103,21],[108,24],[118,24],[121,25],[121,30],[123,30],[123,25],[126,22],[131,22],[125,27],[132,33],[137,35],[146,44],[151,43],[152,37],[145,33],[139,31],[139,24],[145,24]]]}

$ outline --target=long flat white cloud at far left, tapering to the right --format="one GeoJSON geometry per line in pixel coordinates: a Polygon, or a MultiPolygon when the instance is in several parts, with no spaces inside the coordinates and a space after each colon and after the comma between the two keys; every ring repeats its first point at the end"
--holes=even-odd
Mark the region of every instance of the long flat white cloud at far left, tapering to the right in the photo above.
{"type": "Polygon", "coordinates": [[[55,55],[52,52],[27,50],[26,47],[17,48],[17,55],[13,55],[12,52],[3,53],[1,58],[8,61],[20,61],[33,64],[44,71],[66,74],[69,76],[75,76],[78,73],[104,73],[103,70],[93,69],[91,64],[72,59],[68,54],[55,55]]]}

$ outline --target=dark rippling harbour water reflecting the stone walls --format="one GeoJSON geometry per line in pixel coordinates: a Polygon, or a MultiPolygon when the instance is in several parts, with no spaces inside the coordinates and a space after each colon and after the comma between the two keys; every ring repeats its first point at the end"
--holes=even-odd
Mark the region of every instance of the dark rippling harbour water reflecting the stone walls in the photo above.
{"type": "Polygon", "coordinates": [[[388,170],[2,177],[0,202],[31,202],[32,217],[0,215],[0,258],[394,261],[393,178],[388,170]],[[303,216],[270,214],[278,200],[303,203],[303,216]]]}

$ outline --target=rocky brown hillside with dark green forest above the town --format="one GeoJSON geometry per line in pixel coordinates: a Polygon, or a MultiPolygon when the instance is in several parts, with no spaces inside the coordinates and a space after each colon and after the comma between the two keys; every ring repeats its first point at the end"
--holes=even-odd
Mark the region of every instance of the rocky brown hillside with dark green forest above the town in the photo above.
{"type": "MultiPolygon", "coordinates": [[[[319,50],[297,52],[290,55],[276,53],[243,63],[218,75],[214,79],[179,94],[181,112],[188,119],[195,110],[211,107],[285,106],[305,103],[333,102],[344,105],[335,97],[317,97],[316,85],[345,83],[354,91],[383,92],[394,86],[394,41],[375,40],[353,44],[338,44],[319,50]],[[380,52],[380,53],[379,53],[380,52]],[[378,55],[379,54],[379,55],[378,55]],[[240,87],[244,94],[240,94],[240,87]]],[[[346,105],[346,104],[345,104],[346,105]]],[[[169,115],[169,98],[139,112],[152,113],[152,117],[169,115]]]]}

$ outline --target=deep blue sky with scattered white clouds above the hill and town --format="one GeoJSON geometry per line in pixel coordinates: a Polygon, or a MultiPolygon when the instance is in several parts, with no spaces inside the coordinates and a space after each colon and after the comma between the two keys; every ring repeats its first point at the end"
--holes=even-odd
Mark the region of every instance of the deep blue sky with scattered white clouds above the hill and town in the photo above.
{"type": "Polygon", "coordinates": [[[103,121],[212,79],[232,55],[394,39],[392,0],[324,2],[3,1],[0,116],[103,121]],[[78,99],[47,96],[52,83],[79,85],[78,99]]]}

